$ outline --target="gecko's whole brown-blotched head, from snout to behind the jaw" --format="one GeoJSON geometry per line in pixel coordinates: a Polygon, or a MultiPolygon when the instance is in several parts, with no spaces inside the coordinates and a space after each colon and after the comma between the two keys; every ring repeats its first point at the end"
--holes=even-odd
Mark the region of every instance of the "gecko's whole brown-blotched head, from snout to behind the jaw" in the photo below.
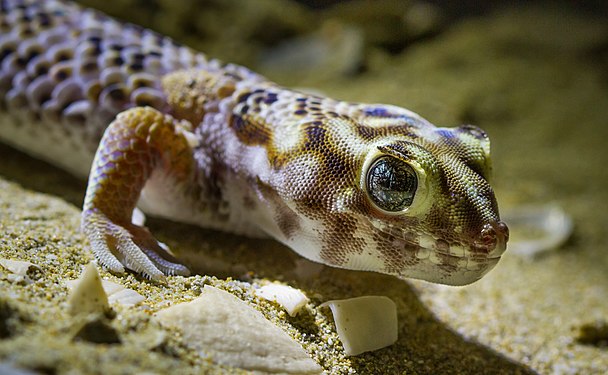
{"type": "Polygon", "coordinates": [[[281,195],[300,218],[298,230],[283,225],[294,250],[337,267],[451,285],[496,265],[508,229],[487,180],[482,130],[436,128],[402,109],[302,129],[302,147],[282,169],[281,195]]]}

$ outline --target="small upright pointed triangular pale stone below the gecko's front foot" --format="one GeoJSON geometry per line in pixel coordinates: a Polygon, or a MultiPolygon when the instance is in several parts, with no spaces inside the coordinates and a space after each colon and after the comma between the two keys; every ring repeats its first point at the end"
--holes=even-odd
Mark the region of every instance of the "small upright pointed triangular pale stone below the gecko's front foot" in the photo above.
{"type": "Polygon", "coordinates": [[[104,313],[110,308],[101,277],[93,263],[89,263],[82,273],[70,294],[68,305],[72,315],[104,313]]]}

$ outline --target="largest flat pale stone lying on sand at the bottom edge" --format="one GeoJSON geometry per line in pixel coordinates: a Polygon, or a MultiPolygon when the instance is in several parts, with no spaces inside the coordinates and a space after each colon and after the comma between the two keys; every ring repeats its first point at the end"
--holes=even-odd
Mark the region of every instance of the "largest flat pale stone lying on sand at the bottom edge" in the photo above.
{"type": "Polygon", "coordinates": [[[300,344],[259,311],[211,286],[193,301],[159,311],[156,318],[177,328],[186,345],[218,364],[270,373],[322,372],[300,344]]]}

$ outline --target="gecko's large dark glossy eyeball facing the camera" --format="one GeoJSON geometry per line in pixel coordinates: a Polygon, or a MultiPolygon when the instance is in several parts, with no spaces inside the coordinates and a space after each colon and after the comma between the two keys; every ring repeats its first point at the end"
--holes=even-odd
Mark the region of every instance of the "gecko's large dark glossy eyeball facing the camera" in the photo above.
{"type": "Polygon", "coordinates": [[[414,169],[392,156],[378,158],[367,172],[367,191],[385,211],[399,212],[411,206],[417,188],[414,169]]]}

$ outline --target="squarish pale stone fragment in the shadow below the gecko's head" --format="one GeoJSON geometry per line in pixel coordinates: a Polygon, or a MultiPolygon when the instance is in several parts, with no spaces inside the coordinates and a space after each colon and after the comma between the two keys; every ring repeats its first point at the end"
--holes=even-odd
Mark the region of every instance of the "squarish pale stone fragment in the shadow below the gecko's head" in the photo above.
{"type": "Polygon", "coordinates": [[[378,350],[397,341],[397,307],[384,296],[327,301],[346,355],[378,350]]]}

